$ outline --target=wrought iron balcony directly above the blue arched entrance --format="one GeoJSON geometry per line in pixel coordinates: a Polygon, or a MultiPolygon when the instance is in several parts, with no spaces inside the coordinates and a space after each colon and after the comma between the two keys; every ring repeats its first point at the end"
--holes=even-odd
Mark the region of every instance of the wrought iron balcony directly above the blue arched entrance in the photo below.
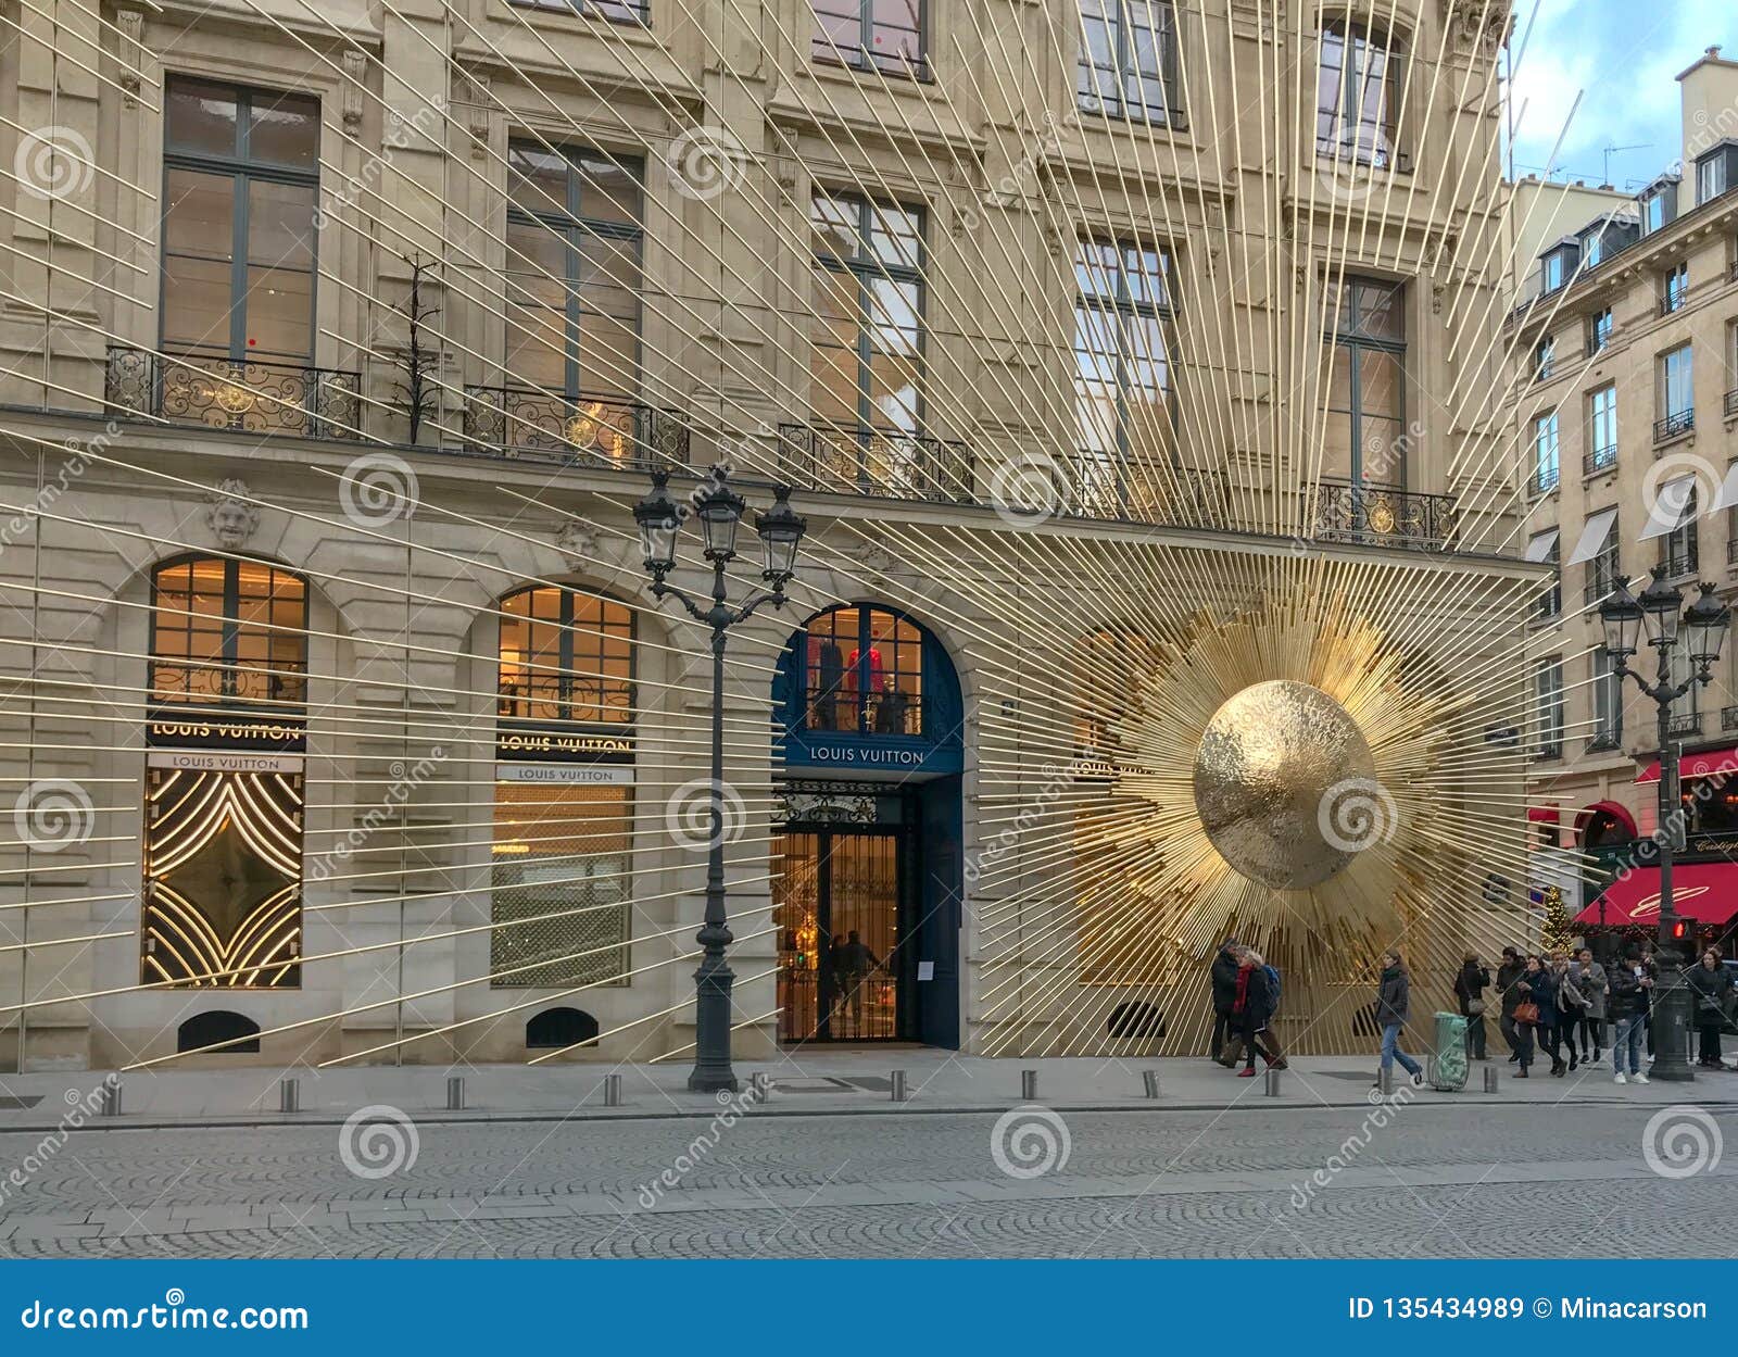
{"type": "Polygon", "coordinates": [[[973,504],[972,448],[904,429],[780,424],[780,476],[805,490],[973,504]]]}

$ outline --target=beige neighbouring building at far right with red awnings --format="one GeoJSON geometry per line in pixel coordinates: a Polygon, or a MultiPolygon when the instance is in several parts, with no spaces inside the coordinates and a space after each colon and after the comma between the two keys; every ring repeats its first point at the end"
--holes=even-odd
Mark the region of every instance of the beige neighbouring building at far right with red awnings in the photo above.
{"type": "MultiPolygon", "coordinates": [[[[1655,705],[1611,674],[1599,603],[1615,580],[1639,592],[1655,572],[1708,580],[1724,599],[1738,582],[1738,63],[1708,49],[1677,80],[1684,146],[1670,170],[1627,196],[1528,181],[1512,202],[1517,269],[1531,269],[1509,323],[1526,554],[1557,566],[1529,646],[1531,815],[1542,846],[1582,850],[1587,904],[1620,865],[1651,860],[1634,841],[1658,820],[1655,705]]],[[[1653,652],[1637,664],[1651,674],[1653,652]]],[[[1735,678],[1728,646],[1672,718],[1691,862],[1731,857],[1735,678]]],[[[1559,855],[1540,857],[1535,888],[1556,884],[1559,855]]],[[[1639,881],[1646,905],[1656,891],[1639,881]]],[[[1714,912],[1731,900],[1738,914],[1738,876],[1717,895],[1714,912]]]]}

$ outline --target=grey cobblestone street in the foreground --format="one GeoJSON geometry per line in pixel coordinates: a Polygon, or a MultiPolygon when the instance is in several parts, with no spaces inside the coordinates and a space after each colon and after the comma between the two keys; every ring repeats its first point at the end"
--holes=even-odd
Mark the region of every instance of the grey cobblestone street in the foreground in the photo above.
{"type": "MultiPolygon", "coordinates": [[[[716,1145],[697,1145],[707,1122],[695,1119],[429,1119],[408,1135],[414,1157],[403,1142],[389,1147],[405,1162],[377,1178],[346,1168],[358,1154],[341,1143],[341,1126],[97,1129],[75,1133],[23,1187],[9,1185],[0,1253],[1726,1253],[1738,1171],[1651,1169],[1644,1138],[1658,1112],[1413,1103],[1370,1129],[1359,1109],[1079,1110],[1024,1128],[1051,1133],[1039,1161],[1051,1168],[1031,1178],[999,1166],[1024,1171],[1031,1161],[1010,1138],[1020,1128],[998,1136],[992,1112],[751,1114],[716,1145]],[[1317,1169],[1326,1187],[1310,1187],[1317,1169]]],[[[1738,1110],[1717,1107],[1700,1124],[1719,1143],[1735,1121],[1738,1110]]],[[[38,1140],[0,1135],[0,1164],[24,1162],[38,1140]]],[[[367,1150],[362,1161],[379,1171],[367,1150]]]]}

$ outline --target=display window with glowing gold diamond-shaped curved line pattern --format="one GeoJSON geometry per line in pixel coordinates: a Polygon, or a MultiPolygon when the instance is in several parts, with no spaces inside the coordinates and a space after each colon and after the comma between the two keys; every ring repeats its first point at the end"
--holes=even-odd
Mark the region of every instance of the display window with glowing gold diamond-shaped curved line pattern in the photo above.
{"type": "Polygon", "coordinates": [[[302,775],[149,770],[144,983],[301,983],[302,775]]]}

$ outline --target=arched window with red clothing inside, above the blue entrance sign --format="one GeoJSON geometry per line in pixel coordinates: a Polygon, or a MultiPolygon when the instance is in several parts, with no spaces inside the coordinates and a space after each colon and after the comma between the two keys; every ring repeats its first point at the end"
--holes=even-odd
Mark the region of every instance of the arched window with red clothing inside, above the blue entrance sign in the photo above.
{"type": "Polygon", "coordinates": [[[923,735],[923,631],[883,608],[833,608],[803,638],[808,730],[923,735]]]}

